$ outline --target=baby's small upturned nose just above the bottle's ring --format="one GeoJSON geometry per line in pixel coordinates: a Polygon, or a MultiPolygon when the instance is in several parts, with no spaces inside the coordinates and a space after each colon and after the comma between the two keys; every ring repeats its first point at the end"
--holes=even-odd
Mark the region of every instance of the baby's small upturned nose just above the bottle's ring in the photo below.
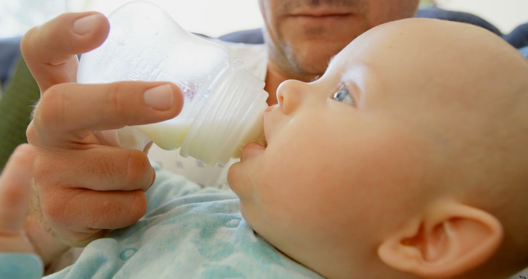
{"type": "Polygon", "coordinates": [[[277,89],[279,107],[285,114],[290,114],[303,102],[306,83],[298,80],[286,80],[277,89]]]}

